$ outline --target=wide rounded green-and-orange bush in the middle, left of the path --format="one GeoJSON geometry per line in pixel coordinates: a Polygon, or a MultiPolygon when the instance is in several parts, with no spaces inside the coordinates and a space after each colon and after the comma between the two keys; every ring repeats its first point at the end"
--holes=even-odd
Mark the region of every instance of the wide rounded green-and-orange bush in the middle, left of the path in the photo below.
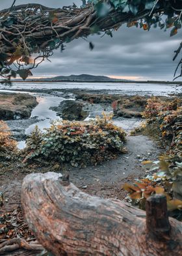
{"type": "Polygon", "coordinates": [[[41,158],[72,166],[97,165],[123,152],[125,133],[110,122],[111,116],[89,122],[57,121],[45,133],[32,132],[25,160],[41,158]]]}

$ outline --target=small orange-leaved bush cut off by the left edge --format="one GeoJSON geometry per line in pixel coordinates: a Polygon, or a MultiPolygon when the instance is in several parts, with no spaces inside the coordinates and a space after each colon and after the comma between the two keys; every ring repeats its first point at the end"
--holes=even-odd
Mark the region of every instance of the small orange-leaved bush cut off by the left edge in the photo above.
{"type": "Polygon", "coordinates": [[[8,153],[16,152],[16,140],[11,138],[10,129],[5,121],[0,121],[0,158],[5,157],[8,153]]]}

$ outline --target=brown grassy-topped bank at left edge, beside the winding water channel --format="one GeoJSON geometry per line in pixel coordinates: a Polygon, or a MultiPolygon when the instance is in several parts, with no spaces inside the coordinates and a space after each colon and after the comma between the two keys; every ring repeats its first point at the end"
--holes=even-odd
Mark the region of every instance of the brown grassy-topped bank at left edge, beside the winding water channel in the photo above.
{"type": "Polygon", "coordinates": [[[36,97],[24,93],[0,94],[0,120],[19,120],[31,117],[37,105],[36,97]]]}

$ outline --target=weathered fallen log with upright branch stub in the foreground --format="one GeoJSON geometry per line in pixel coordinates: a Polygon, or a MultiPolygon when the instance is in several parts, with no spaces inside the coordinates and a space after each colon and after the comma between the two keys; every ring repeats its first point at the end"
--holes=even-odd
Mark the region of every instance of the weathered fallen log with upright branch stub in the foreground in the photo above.
{"type": "Polygon", "coordinates": [[[182,224],[168,219],[163,195],[149,198],[145,213],[87,195],[68,176],[48,172],[25,177],[21,204],[34,236],[55,256],[181,255],[182,224]]]}

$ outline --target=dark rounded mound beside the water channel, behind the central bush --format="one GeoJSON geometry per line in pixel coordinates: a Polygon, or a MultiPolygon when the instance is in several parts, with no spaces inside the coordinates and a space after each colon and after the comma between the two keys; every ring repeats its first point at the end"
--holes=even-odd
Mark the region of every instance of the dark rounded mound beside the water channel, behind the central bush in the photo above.
{"type": "Polygon", "coordinates": [[[85,120],[88,112],[83,110],[84,104],[79,101],[66,100],[62,101],[59,106],[51,107],[51,110],[57,112],[63,120],[85,120]]]}

